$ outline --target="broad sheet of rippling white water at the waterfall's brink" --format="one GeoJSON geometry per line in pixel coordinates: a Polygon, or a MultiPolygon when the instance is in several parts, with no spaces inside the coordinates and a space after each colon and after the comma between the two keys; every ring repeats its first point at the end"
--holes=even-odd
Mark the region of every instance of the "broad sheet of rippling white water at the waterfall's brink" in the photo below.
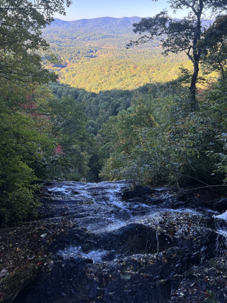
{"type": "MultiPolygon", "coordinates": [[[[64,183],[63,183],[64,184],[64,183]]],[[[129,185],[124,182],[81,183],[49,187],[52,199],[62,199],[74,213],[74,221],[88,231],[116,229],[132,218],[121,192],[129,185]]],[[[48,203],[48,201],[46,201],[48,203]]]]}

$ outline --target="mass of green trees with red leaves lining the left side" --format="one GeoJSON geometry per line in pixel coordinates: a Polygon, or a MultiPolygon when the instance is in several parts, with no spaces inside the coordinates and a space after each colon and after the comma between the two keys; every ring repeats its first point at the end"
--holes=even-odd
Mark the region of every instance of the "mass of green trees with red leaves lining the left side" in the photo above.
{"type": "Polygon", "coordinates": [[[80,178],[87,174],[82,104],[72,97],[57,99],[41,86],[58,77],[47,69],[47,62],[56,58],[49,54],[42,30],[54,20],[54,13],[65,15],[64,7],[70,4],[70,0],[0,1],[1,226],[34,213],[36,181],[65,178],[72,171],[80,178]]]}

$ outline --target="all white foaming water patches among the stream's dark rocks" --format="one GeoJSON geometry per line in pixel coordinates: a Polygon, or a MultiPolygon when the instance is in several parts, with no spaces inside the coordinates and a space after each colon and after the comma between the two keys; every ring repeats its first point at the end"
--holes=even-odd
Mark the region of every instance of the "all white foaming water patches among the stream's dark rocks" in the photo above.
{"type": "MultiPolygon", "coordinates": [[[[140,199],[124,201],[121,195],[129,188],[126,181],[100,183],[71,181],[54,183],[48,186],[48,192],[51,204],[57,201],[56,207],[67,207],[70,212],[73,212],[73,218],[78,226],[86,228],[92,233],[115,231],[130,222],[141,219],[150,220],[165,211],[202,215],[202,212],[194,208],[169,208],[167,205],[163,207],[163,205],[146,204],[146,201],[141,202],[140,199]]],[[[156,192],[159,198],[165,198],[166,201],[174,199],[169,193],[165,193],[165,188],[157,189],[156,192]]],[[[212,212],[211,210],[206,211],[212,212]]],[[[227,212],[216,217],[227,220],[227,212]]],[[[100,262],[108,252],[98,249],[85,253],[80,246],[73,246],[67,247],[59,253],[64,257],[79,255],[100,262]]]]}

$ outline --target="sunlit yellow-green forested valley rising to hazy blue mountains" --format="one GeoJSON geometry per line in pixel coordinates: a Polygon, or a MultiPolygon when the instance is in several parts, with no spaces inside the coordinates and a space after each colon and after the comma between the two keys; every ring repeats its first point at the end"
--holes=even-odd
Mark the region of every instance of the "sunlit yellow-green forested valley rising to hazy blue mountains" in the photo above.
{"type": "Polygon", "coordinates": [[[189,68],[182,55],[161,55],[160,39],[144,46],[126,49],[133,34],[132,18],[55,20],[43,31],[44,38],[61,60],[52,70],[61,83],[88,92],[132,90],[146,83],[176,79],[179,65],[189,68]]]}

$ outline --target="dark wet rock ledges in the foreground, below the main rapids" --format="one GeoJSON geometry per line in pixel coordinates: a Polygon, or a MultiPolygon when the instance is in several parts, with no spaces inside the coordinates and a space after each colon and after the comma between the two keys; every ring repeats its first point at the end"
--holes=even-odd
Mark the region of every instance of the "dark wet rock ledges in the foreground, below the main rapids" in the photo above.
{"type": "Polygon", "coordinates": [[[84,256],[81,251],[55,255],[51,270],[16,302],[164,303],[182,299],[182,294],[186,298],[182,281],[190,278],[192,285],[197,281],[194,271],[206,268],[206,260],[225,251],[225,237],[212,230],[215,219],[210,215],[198,219],[197,215],[163,212],[152,220],[132,222],[102,235],[73,228],[67,246],[77,244],[84,256]],[[100,249],[114,253],[98,262],[86,257],[90,250],[100,249]]]}

